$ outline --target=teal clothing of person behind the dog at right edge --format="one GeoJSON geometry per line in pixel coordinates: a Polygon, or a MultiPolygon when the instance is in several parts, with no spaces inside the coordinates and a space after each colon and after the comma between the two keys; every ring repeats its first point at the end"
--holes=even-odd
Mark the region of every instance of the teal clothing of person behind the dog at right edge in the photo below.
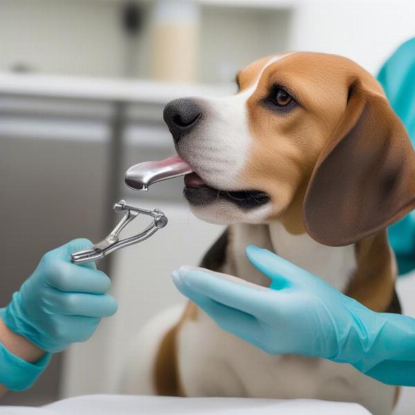
{"type": "MultiPolygon", "coordinates": [[[[415,144],[415,38],[401,45],[378,74],[391,104],[415,144]]],[[[389,241],[398,259],[399,273],[415,268],[415,214],[389,227],[389,241]]]]}

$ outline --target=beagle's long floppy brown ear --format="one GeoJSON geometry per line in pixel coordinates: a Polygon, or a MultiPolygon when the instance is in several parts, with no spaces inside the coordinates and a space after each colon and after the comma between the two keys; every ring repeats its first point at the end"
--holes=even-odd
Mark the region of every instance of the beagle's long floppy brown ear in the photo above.
{"type": "Polygon", "coordinates": [[[382,95],[360,82],[322,151],[304,199],[304,226],[317,242],[344,246],[415,208],[415,153],[382,95]]]}

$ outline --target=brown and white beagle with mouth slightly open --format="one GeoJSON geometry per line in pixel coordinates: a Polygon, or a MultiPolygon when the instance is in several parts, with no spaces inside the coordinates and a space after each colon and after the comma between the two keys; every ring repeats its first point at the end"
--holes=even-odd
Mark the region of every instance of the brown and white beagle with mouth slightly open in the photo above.
{"type": "MultiPolygon", "coordinates": [[[[184,195],[196,216],[228,224],[202,261],[269,286],[246,259],[268,248],[375,311],[400,313],[386,228],[414,205],[415,159],[376,79],[322,53],[265,57],[226,98],[165,107],[176,150],[194,169],[184,195]]],[[[272,356],[222,331],[190,303],[160,341],[158,394],[317,398],[391,414],[396,387],[347,364],[272,356]]]]}

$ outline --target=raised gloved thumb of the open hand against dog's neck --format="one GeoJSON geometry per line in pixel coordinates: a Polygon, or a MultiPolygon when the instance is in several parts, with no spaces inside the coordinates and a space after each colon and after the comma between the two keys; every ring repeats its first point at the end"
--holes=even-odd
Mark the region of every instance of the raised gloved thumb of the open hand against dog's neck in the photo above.
{"type": "Polygon", "coordinates": [[[310,279],[310,274],[306,270],[267,249],[250,245],[246,248],[246,256],[257,270],[273,281],[271,288],[275,290],[288,288],[293,283],[301,282],[304,284],[310,279]]]}

